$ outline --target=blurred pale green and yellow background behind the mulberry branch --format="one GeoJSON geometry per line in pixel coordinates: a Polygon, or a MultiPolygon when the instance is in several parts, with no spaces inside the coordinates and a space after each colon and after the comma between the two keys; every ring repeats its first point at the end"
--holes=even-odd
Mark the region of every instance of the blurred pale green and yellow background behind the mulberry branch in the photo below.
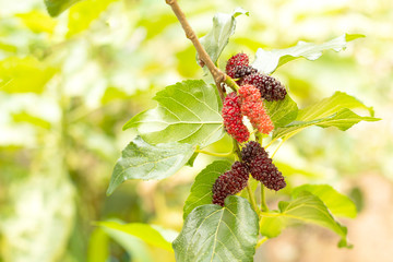
{"type": "MultiPolygon", "coordinates": [[[[348,226],[353,250],[325,229],[288,229],[255,261],[391,261],[393,247],[393,2],[391,0],[180,1],[198,35],[215,12],[236,7],[237,31],[219,61],[259,47],[322,43],[364,34],[340,53],[290,62],[274,74],[299,107],[343,91],[373,106],[379,122],[347,132],[311,128],[276,160],[289,186],[330,183],[359,209],[348,226]]],[[[121,219],[179,231],[200,155],[163,181],[129,181],[105,192],[128,119],[153,107],[155,92],[202,78],[195,51],[164,0],[85,0],[57,19],[43,0],[0,0],[0,261],[175,261],[174,253],[97,227],[121,219]]],[[[227,138],[211,150],[228,152],[227,138]]],[[[270,193],[275,206],[286,193],[270,193]]]]}

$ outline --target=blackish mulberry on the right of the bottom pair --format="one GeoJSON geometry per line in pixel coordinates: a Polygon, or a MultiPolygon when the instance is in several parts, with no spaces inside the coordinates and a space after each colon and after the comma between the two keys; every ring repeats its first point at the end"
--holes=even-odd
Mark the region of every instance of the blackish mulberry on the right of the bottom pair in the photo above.
{"type": "Polygon", "coordinates": [[[251,176],[266,188],[278,191],[286,187],[285,179],[272,163],[265,150],[257,142],[247,143],[241,150],[242,160],[248,166],[251,176]]]}

